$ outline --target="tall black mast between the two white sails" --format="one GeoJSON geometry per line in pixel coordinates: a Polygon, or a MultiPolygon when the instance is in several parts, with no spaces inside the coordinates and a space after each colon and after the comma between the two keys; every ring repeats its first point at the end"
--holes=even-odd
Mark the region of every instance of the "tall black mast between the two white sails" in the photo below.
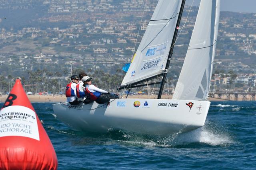
{"type": "Polygon", "coordinates": [[[182,12],[183,12],[183,9],[184,9],[185,1],[186,0],[182,0],[182,4],[181,4],[179,16],[178,16],[178,21],[177,21],[177,24],[176,24],[176,29],[175,29],[174,35],[173,35],[174,38],[172,39],[171,48],[170,48],[170,51],[169,51],[169,54],[168,54],[167,63],[166,63],[164,73],[163,73],[163,79],[162,79],[160,90],[159,90],[158,97],[157,97],[158,99],[160,99],[161,96],[162,96],[162,92],[163,92],[163,88],[164,88],[164,82],[165,82],[166,75],[167,75],[167,72],[168,72],[168,68],[169,68],[169,65],[170,65],[170,60],[172,58],[172,51],[173,51],[173,48],[174,48],[174,43],[176,41],[176,37],[177,37],[177,33],[178,33],[178,27],[180,25],[180,20],[181,20],[182,12]]]}

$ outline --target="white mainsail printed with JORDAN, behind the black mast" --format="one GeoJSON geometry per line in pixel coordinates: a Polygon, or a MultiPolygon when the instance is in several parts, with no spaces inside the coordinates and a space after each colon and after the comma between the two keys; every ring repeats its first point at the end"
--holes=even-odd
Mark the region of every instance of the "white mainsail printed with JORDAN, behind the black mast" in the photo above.
{"type": "Polygon", "coordinates": [[[121,85],[164,72],[182,0],[159,0],[121,85]]]}

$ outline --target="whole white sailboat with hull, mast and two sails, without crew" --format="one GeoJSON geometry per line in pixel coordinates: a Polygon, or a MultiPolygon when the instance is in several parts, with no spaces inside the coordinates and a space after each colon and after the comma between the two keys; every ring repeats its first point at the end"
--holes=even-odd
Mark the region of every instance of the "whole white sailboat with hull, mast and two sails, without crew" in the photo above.
{"type": "Polygon", "coordinates": [[[79,131],[169,136],[202,127],[216,49],[220,0],[202,0],[172,100],[161,99],[185,0],[159,0],[118,90],[161,84],[157,99],[112,99],[110,106],[54,104],[58,119],[79,131]],[[148,83],[162,78],[161,82],[148,83]]]}

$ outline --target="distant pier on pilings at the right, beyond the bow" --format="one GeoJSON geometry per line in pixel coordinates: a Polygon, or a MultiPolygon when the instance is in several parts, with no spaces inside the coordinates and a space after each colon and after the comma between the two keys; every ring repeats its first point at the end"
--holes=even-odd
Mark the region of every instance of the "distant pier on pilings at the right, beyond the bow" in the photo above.
{"type": "Polygon", "coordinates": [[[256,92],[209,92],[210,98],[232,101],[255,101],[256,92]]]}

